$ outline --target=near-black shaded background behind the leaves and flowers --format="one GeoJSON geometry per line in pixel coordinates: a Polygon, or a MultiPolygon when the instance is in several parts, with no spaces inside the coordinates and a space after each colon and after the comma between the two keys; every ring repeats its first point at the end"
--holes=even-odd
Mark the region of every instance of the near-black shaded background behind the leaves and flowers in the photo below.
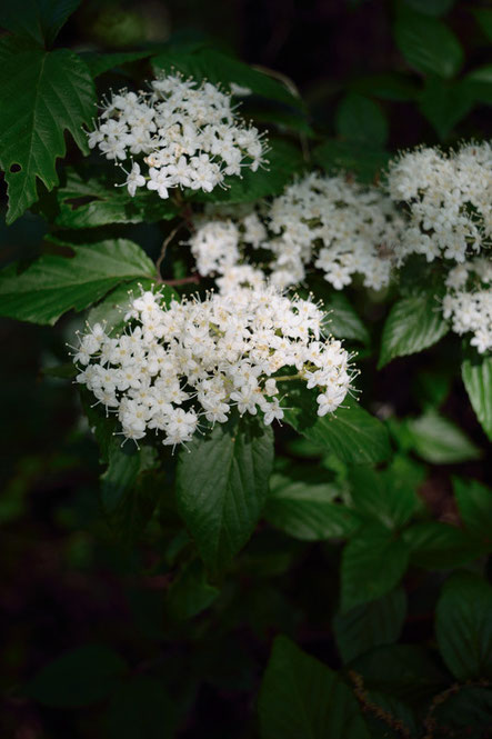
{"type": "MultiPolygon", "coordinates": [[[[456,2],[446,18],[465,48],[463,74],[490,61],[489,44],[469,4],[456,2]]],[[[473,7],[480,4],[489,6],[475,2],[473,7]]],[[[335,136],[337,106],[360,78],[398,71],[410,86],[419,81],[396,49],[392,16],[391,3],[370,0],[86,0],[58,44],[78,51],[111,51],[138,49],[148,41],[212,39],[244,61],[291,78],[308,102],[312,122],[335,136]]],[[[108,86],[102,80],[101,90],[108,86]]],[[[124,84],[124,76],[116,74],[111,82],[124,84]]],[[[401,97],[376,98],[390,123],[390,149],[438,142],[414,100],[401,97]]],[[[474,106],[449,132],[446,142],[472,134],[485,137],[489,116],[490,108],[474,106]]],[[[32,214],[10,228],[1,226],[2,262],[38,253],[44,231],[43,221],[32,214]]],[[[161,242],[158,227],[143,228],[138,237],[150,254],[157,253],[161,242]]],[[[42,372],[43,367],[67,361],[64,342],[78,320],[64,319],[56,330],[8,320],[0,323],[0,690],[6,695],[1,736],[106,737],[104,708],[77,713],[40,708],[18,688],[63,649],[109,640],[137,672],[149,660],[163,669],[171,695],[175,691],[182,711],[188,710],[180,737],[252,737],[252,696],[273,633],[295,628],[320,658],[337,666],[320,601],[323,596],[333,601],[330,593],[338,589],[338,555],[317,545],[308,558],[295,560],[297,542],[290,541],[284,559],[295,566],[287,571],[285,562],[268,558],[269,548],[274,548],[269,543],[271,532],[264,539],[260,532],[247,550],[239,595],[231,593],[220,627],[207,626],[205,618],[190,637],[185,626],[167,623],[162,593],[169,580],[159,569],[161,535],[151,528],[150,545],[139,547],[114,540],[101,519],[98,450],[80,418],[77,392],[69,381],[42,372]],[[270,562],[270,573],[258,571],[260,560],[270,562]],[[273,588],[269,577],[281,587],[273,588]]],[[[458,367],[452,348],[449,351],[444,363],[456,361],[458,367]]],[[[375,406],[380,400],[401,413],[416,412],[419,391],[408,376],[425,363],[434,367],[435,356],[430,351],[404,360],[404,366],[401,360],[392,363],[373,388],[375,406]]],[[[451,388],[445,410],[476,443],[484,443],[459,381],[451,388]]],[[[440,468],[424,493],[438,519],[454,521],[448,472],[440,468]]],[[[460,473],[480,479],[484,469],[480,463],[462,465],[460,473]]],[[[425,587],[416,583],[414,588],[404,635],[410,641],[425,639],[432,628],[433,602],[428,600],[425,587]]]]}

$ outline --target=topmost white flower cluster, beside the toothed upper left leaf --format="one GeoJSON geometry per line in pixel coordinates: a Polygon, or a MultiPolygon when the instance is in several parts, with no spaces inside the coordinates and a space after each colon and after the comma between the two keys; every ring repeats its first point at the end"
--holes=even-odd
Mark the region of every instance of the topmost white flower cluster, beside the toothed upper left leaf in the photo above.
{"type": "Polygon", "coordinates": [[[131,196],[145,184],[160,198],[177,187],[210,192],[224,176],[241,176],[242,167],[257,171],[265,161],[261,134],[237,116],[230,94],[178,76],[154,80],[151,92],[113,94],[89,147],[116,162],[143,160],[127,172],[131,196]]]}

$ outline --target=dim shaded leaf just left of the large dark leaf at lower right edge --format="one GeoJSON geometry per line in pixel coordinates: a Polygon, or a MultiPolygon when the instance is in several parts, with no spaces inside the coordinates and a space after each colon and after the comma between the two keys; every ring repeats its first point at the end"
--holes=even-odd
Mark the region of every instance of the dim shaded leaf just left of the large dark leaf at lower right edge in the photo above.
{"type": "Polygon", "coordinates": [[[406,595],[396,588],[371,603],[357,606],[333,618],[333,632],[343,662],[398,640],[406,615],[406,595]]]}

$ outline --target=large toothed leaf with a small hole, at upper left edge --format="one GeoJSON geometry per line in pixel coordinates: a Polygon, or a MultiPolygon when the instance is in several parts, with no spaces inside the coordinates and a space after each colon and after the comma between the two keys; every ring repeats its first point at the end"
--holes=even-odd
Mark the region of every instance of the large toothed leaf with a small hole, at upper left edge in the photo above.
{"type": "Polygon", "coordinates": [[[48,190],[58,184],[56,160],[64,157],[67,130],[88,151],[82,124],[94,114],[96,91],[76,53],[31,49],[3,58],[0,97],[0,166],[12,223],[38,199],[37,178],[48,190]]]}

